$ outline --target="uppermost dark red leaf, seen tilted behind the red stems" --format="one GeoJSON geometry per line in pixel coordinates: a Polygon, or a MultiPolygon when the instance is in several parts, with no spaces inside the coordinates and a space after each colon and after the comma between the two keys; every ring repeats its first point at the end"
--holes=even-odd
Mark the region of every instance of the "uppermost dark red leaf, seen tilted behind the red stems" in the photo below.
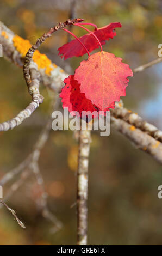
{"type": "MultiPolygon", "coordinates": [[[[110,23],[105,27],[98,28],[97,31],[94,31],[94,34],[97,36],[101,44],[104,45],[106,40],[114,38],[114,36],[116,35],[115,28],[118,27],[121,27],[120,22],[110,23]]],[[[92,52],[93,50],[99,47],[97,40],[94,38],[92,34],[85,34],[81,36],[79,39],[83,42],[85,47],[88,48],[89,52],[92,52]]],[[[77,39],[74,39],[68,42],[67,44],[61,46],[60,48],[58,48],[58,51],[59,55],[61,55],[60,57],[64,57],[65,60],[73,56],[83,56],[86,53],[85,49],[78,42],[77,39]]]]}

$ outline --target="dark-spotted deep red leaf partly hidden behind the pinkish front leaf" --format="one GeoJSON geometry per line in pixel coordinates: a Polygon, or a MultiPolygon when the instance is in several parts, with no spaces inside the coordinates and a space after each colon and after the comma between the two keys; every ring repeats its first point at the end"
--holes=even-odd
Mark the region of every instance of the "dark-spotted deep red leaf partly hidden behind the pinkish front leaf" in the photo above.
{"type": "MultiPolygon", "coordinates": [[[[61,89],[60,97],[62,98],[63,108],[68,107],[68,111],[71,115],[76,115],[73,111],[77,111],[78,117],[85,117],[86,113],[83,111],[91,113],[94,111],[99,112],[100,109],[96,105],[92,105],[91,100],[86,99],[85,93],[80,93],[80,84],[77,80],[74,80],[74,76],[68,76],[64,80],[65,86],[61,89]]],[[[113,102],[109,108],[114,108],[115,102],[113,102]]],[[[109,108],[104,109],[104,111],[109,111],[109,108]]],[[[91,120],[91,115],[86,115],[88,121],[91,120]]],[[[97,117],[97,113],[92,115],[92,118],[97,117]]]]}

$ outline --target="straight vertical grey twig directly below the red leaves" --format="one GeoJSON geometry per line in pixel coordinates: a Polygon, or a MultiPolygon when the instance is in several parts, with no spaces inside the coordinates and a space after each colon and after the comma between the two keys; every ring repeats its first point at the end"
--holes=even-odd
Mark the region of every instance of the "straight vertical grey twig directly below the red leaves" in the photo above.
{"type": "Polygon", "coordinates": [[[77,245],[87,245],[88,164],[90,143],[91,132],[89,130],[80,130],[77,172],[77,245]]]}

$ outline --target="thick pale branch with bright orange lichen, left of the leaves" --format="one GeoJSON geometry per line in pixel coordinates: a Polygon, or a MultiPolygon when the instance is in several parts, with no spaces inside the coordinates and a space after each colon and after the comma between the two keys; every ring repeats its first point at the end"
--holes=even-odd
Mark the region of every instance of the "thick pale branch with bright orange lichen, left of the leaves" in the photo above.
{"type": "MultiPolygon", "coordinates": [[[[26,48],[27,45],[30,46],[30,42],[15,35],[0,21],[0,44],[3,46],[3,56],[15,65],[22,67],[26,57],[26,48]]],[[[37,53],[39,59],[32,59],[31,65],[39,68],[44,86],[59,91],[67,74],[59,66],[52,63],[45,54],[41,54],[39,51],[37,53]]]]}

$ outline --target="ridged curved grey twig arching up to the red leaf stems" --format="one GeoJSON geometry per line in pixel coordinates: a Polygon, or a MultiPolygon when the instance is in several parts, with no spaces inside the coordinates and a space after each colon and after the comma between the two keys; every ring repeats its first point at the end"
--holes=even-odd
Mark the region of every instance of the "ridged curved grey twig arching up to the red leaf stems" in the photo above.
{"type": "Polygon", "coordinates": [[[14,127],[20,125],[22,121],[30,117],[30,115],[35,111],[35,109],[39,107],[39,104],[43,102],[43,96],[40,95],[40,92],[39,92],[40,73],[36,65],[33,65],[33,63],[31,65],[32,57],[35,50],[37,50],[39,46],[42,44],[42,42],[45,42],[45,40],[49,38],[49,36],[51,36],[52,33],[54,33],[55,31],[58,31],[59,29],[63,29],[68,25],[73,25],[81,21],[83,21],[83,19],[73,19],[73,20],[68,19],[65,22],[60,22],[58,25],[49,29],[47,33],[43,34],[36,41],[35,45],[29,48],[26,54],[24,65],[23,65],[23,75],[28,86],[29,94],[32,96],[32,102],[29,104],[29,106],[26,107],[26,109],[21,111],[15,118],[0,124],[0,131],[8,131],[9,129],[13,129],[14,127]]]}

